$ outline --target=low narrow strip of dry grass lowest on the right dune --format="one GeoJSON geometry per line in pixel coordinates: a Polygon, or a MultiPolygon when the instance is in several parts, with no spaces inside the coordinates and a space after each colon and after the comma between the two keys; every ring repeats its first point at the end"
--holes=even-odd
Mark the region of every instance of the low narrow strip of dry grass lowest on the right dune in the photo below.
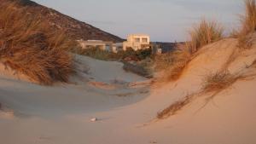
{"type": "Polygon", "coordinates": [[[183,100],[173,103],[161,112],[157,113],[157,118],[165,119],[177,114],[178,111],[182,110],[183,107],[187,106],[193,99],[194,95],[187,95],[183,100]]]}

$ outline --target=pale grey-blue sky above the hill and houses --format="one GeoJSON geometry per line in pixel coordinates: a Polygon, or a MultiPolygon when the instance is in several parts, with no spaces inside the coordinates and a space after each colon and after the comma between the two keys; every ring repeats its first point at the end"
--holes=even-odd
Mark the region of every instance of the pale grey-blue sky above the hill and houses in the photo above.
{"type": "Polygon", "coordinates": [[[242,0],[34,1],[119,37],[146,33],[161,42],[187,40],[189,28],[202,17],[218,20],[229,32],[243,12],[242,0]]]}

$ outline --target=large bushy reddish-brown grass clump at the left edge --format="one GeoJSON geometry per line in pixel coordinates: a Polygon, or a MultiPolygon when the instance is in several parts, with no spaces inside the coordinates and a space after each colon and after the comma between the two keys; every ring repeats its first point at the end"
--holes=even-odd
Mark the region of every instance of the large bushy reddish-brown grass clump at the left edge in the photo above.
{"type": "Polygon", "coordinates": [[[0,5],[0,61],[39,84],[67,82],[73,73],[70,42],[16,3],[0,5]]]}

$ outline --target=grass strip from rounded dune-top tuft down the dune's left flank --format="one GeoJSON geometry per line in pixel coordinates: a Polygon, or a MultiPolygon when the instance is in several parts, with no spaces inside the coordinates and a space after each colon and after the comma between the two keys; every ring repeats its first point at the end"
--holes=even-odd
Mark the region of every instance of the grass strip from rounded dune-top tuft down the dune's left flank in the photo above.
{"type": "Polygon", "coordinates": [[[156,69],[166,70],[164,78],[160,78],[160,81],[163,79],[167,81],[177,80],[189,61],[195,57],[195,53],[201,47],[223,38],[223,32],[222,26],[216,21],[201,20],[201,23],[189,32],[191,41],[187,43],[186,49],[176,49],[170,54],[156,57],[156,69]]]}

